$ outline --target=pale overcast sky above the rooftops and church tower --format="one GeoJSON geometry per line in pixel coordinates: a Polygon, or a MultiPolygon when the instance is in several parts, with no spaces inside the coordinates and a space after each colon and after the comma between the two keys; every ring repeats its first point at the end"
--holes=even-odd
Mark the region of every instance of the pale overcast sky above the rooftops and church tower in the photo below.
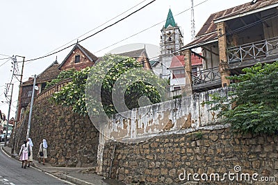
{"type": "MultiPolygon", "coordinates": [[[[114,21],[137,10],[150,1],[151,0],[1,1],[0,59],[7,58],[6,55],[21,55],[25,56],[26,60],[42,57],[68,42],[70,42],[70,44],[76,43],[76,38],[85,33],[87,34],[80,37],[79,40],[92,35],[97,32],[97,30],[112,24],[114,21]],[[136,7],[129,10],[133,6],[136,7]],[[129,12],[93,30],[126,10],[129,10],[129,12]],[[90,30],[92,31],[88,33],[90,30]],[[74,41],[71,42],[72,40],[74,41]]],[[[202,3],[195,7],[196,33],[211,13],[238,6],[249,1],[251,0],[194,0],[195,6],[202,3]],[[205,2],[202,3],[203,1],[205,2]]],[[[97,57],[126,44],[145,43],[159,46],[161,28],[165,24],[169,8],[171,8],[173,15],[185,11],[180,15],[174,16],[174,19],[178,26],[181,26],[184,35],[184,44],[187,44],[190,42],[190,6],[190,0],[156,0],[135,15],[131,15],[131,17],[121,21],[119,24],[79,44],[84,46],[91,53],[97,55],[97,57]],[[163,21],[163,23],[158,24],[161,21],[163,21]],[[158,25],[154,26],[155,24],[158,25]],[[151,26],[154,27],[145,30],[151,26]],[[142,30],[145,31],[126,39],[142,30]],[[119,42],[122,39],[126,40],[111,46],[111,44],[119,42]],[[106,47],[108,48],[104,49],[106,47]]],[[[60,49],[63,48],[65,48],[65,46],[60,49]]],[[[56,56],[59,63],[63,62],[71,49],[72,47],[55,55],[51,55],[48,58],[26,62],[23,76],[24,81],[28,80],[28,77],[34,74],[38,75],[44,71],[44,69],[54,62],[56,56]]],[[[17,58],[17,60],[20,61],[22,58],[17,58]]],[[[6,61],[7,60],[0,60],[0,110],[8,115],[8,103],[6,103],[3,92],[6,83],[10,82],[11,79],[12,72],[10,72],[10,69],[12,69],[12,64],[11,61],[6,61]],[[4,62],[6,63],[3,64],[4,62]],[[1,103],[1,101],[4,101],[4,103],[1,103]]],[[[15,88],[13,89],[13,105],[11,107],[10,118],[15,116],[19,85],[15,79],[13,83],[15,84],[15,88]]]]}

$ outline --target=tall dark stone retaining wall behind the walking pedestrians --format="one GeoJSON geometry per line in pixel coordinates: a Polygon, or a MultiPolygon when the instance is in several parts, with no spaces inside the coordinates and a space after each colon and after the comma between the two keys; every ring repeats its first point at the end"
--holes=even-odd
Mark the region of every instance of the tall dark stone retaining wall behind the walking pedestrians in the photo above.
{"type": "MultiPolygon", "coordinates": [[[[18,152],[28,125],[28,110],[17,126],[15,152],[18,152]]],[[[70,107],[55,105],[49,98],[36,100],[33,105],[30,137],[33,140],[33,156],[37,159],[39,144],[47,139],[48,159],[57,166],[97,166],[99,132],[88,116],[79,116],[70,107]]],[[[13,146],[13,142],[10,143],[13,146]]]]}

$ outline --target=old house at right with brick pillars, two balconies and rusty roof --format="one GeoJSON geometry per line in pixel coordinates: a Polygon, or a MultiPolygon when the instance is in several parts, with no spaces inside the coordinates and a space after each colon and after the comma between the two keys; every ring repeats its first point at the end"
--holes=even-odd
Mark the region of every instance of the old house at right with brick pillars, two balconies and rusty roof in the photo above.
{"type": "Polygon", "coordinates": [[[226,87],[227,76],[245,67],[278,60],[278,0],[258,0],[211,14],[196,39],[181,49],[184,55],[202,49],[204,69],[195,76],[191,58],[186,57],[186,91],[207,91],[226,87]]]}

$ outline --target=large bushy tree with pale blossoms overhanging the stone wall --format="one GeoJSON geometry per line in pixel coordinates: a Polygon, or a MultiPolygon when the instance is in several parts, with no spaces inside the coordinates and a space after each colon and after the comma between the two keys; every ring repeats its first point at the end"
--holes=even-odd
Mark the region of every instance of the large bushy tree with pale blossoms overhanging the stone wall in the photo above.
{"type": "Polygon", "coordinates": [[[166,100],[167,82],[133,58],[105,55],[101,62],[74,72],[72,82],[53,100],[81,115],[115,114],[166,100]],[[147,98],[148,99],[147,99],[147,98]],[[126,109],[127,108],[127,109],[126,109]]]}

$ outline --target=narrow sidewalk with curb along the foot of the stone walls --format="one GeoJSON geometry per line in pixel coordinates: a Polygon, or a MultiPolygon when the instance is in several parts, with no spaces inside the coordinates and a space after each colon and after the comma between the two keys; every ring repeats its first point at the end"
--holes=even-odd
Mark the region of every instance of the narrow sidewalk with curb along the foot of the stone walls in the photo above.
{"type": "MultiPolygon", "coordinates": [[[[2,152],[6,152],[7,155],[15,159],[19,159],[17,154],[11,154],[11,148],[8,146],[2,146],[2,152]]],[[[42,170],[45,173],[49,173],[64,179],[72,184],[79,185],[124,185],[122,182],[117,182],[113,179],[104,179],[104,177],[94,173],[92,168],[67,168],[67,167],[54,167],[51,164],[45,163],[42,165],[38,161],[33,161],[33,167],[42,170]]]]}

